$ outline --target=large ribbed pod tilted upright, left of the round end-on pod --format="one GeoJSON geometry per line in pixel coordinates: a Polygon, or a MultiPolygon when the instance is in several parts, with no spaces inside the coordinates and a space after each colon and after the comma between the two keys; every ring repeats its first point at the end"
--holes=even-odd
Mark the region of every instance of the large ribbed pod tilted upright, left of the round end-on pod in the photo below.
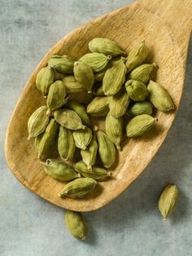
{"type": "Polygon", "coordinates": [[[103,77],[103,91],[105,95],[116,95],[125,81],[126,66],[124,60],[113,62],[103,77]]]}

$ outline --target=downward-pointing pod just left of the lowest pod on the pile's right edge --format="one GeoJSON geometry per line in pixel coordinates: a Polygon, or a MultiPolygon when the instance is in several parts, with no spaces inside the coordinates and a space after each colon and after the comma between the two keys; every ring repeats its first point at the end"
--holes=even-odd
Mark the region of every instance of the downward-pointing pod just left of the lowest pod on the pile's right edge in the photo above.
{"type": "Polygon", "coordinates": [[[105,121],[105,130],[111,142],[116,145],[116,148],[120,150],[120,143],[123,138],[124,121],[122,117],[113,117],[111,113],[107,114],[105,121]]]}

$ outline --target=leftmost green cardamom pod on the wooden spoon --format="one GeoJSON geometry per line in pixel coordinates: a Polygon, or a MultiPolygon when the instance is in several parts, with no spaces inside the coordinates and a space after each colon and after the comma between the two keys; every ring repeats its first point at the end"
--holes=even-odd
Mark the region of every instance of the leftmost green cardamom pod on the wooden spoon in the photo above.
{"type": "Polygon", "coordinates": [[[35,112],[28,119],[28,139],[37,137],[48,125],[50,118],[46,116],[46,106],[37,108],[35,112]]]}

